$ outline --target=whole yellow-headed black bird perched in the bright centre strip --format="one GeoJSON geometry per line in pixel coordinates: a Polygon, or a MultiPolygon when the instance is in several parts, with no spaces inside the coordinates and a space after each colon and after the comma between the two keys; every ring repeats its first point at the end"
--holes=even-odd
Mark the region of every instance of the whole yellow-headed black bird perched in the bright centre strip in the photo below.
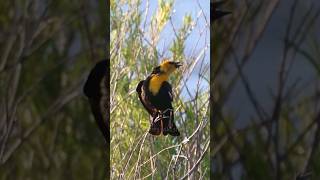
{"type": "Polygon", "coordinates": [[[166,136],[180,136],[174,123],[174,109],[172,107],[173,92],[168,82],[169,76],[182,64],[164,59],[153,68],[151,74],[138,83],[136,92],[151,119],[149,133],[155,136],[161,133],[166,136]]]}

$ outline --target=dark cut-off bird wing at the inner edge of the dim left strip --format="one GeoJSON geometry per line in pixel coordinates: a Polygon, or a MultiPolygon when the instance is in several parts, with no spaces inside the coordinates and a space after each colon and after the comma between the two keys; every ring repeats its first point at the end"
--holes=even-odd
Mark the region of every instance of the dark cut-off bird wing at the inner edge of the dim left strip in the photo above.
{"type": "Polygon", "coordinates": [[[92,114],[106,142],[110,140],[109,98],[107,68],[110,61],[99,61],[90,71],[84,84],[83,92],[89,99],[92,114]]]}

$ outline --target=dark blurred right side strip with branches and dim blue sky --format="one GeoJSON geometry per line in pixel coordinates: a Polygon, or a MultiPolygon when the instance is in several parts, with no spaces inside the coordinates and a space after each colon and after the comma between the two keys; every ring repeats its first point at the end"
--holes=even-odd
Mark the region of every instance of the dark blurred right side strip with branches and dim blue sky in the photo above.
{"type": "Polygon", "coordinates": [[[320,2],[229,0],[212,25],[211,175],[320,178],[320,2]]]}

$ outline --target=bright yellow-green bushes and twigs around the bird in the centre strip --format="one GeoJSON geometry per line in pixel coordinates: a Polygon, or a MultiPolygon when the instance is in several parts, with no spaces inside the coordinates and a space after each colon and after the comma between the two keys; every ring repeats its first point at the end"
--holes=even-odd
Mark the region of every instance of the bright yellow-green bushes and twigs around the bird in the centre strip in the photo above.
{"type": "MultiPolygon", "coordinates": [[[[186,14],[182,25],[177,26],[172,21],[175,1],[159,0],[156,9],[151,9],[150,3],[155,2],[111,1],[111,178],[207,179],[209,88],[201,89],[199,83],[209,76],[209,65],[203,60],[209,51],[207,46],[201,47],[202,51],[185,49],[185,43],[191,32],[209,39],[209,22],[202,28],[198,24],[199,19],[209,21],[209,17],[198,6],[194,8],[199,9],[196,13],[202,12],[198,19],[186,14]],[[160,41],[166,39],[162,34],[166,26],[173,29],[175,37],[165,42],[167,48],[159,49],[160,41]],[[170,80],[175,94],[175,122],[181,132],[178,138],[148,134],[149,115],[135,92],[138,82],[161,62],[161,51],[170,52],[176,61],[184,63],[170,80]],[[198,72],[194,71],[195,66],[198,72]],[[185,83],[191,74],[196,77],[192,91],[185,83]],[[181,95],[183,88],[190,99],[181,95]]],[[[194,46],[197,47],[196,42],[194,46]]]]}

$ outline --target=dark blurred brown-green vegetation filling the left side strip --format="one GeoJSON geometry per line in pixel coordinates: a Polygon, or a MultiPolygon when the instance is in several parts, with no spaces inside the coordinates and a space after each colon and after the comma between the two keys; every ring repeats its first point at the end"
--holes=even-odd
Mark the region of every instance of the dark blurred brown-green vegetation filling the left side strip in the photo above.
{"type": "Polygon", "coordinates": [[[0,179],[104,179],[82,86],[106,57],[106,4],[0,1],[0,179]]]}

